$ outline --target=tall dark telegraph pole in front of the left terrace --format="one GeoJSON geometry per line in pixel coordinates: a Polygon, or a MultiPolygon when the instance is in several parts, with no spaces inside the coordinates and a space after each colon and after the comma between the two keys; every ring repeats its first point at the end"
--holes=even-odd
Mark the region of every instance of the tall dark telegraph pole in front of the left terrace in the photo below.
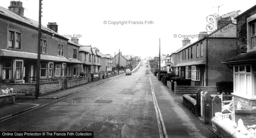
{"type": "Polygon", "coordinates": [[[35,92],[35,98],[39,96],[39,85],[40,85],[40,58],[41,58],[41,11],[42,0],[39,0],[39,19],[38,19],[38,42],[37,42],[37,87],[35,92]]]}

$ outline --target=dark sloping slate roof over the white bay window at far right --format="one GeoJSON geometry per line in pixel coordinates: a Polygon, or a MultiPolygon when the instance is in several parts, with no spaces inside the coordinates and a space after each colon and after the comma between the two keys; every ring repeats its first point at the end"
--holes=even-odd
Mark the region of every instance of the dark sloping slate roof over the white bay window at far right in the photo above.
{"type": "Polygon", "coordinates": [[[222,63],[232,64],[236,62],[256,62],[256,51],[236,55],[235,57],[229,58],[228,60],[222,63]]]}

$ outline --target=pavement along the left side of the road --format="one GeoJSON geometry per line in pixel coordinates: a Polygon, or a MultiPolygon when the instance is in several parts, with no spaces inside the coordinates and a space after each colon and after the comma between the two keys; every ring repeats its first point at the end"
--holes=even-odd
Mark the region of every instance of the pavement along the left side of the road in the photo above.
{"type": "Polygon", "coordinates": [[[122,75],[116,75],[113,77],[105,78],[98,81],[93,81],[86,84],[81,84],[75,87],[71,87],[64,90],[55,91],[52,93],[47,93],[44,95],[38,96],[38,99],[29,99],[29,98],[17,98],[15,97],[15,103],[6,104],[0,107],[0,121],[5,120],[7,118],[11,118],[12,116],[22,114],[26,111],[33,110],[40,106],[45,106],[46,104],[50,104],[54,102],[54,100],[60,99],[62,97],[72,95],[74,93],[78,93],[84,91],[85,89],[89,89],[91,87],[106,83],[118,77],[122,77],[122,75]]]}

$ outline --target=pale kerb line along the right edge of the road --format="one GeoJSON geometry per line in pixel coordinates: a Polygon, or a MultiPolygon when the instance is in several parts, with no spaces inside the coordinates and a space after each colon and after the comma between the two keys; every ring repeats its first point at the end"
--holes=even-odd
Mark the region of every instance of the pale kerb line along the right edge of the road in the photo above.
{"type": "Polygon", "coordinates": [[[161,111],[159,109],[159,106],[158,106],[158,103],[157,103],[157,98],[155,97],[155,91],[154,91],[154,87],[153,87],[150,75],[148,75],[148,77],[149,77],[149,80],[150,80],[151,92],[152,92],[152,97],[153,97],[153,101],[154,101],[155,114],[157,115],[159,136],[160,136],[160,138],[168,138],[167,131],[165,129],[165,123],[163,122],[163,116],[162,116],[161,111]]]}

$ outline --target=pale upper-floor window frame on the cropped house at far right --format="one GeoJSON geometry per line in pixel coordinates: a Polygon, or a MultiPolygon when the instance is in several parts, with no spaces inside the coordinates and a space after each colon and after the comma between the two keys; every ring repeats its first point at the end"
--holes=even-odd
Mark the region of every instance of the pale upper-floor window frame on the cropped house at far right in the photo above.
{"type": "MultiPolygon", "coordinates": [[[[252,37],[256,37],[256,34],[252,35],[252,24],[256,23],[252,21],[255,19],[256,19],[256,14],[247,18],[247,51],[246,52],[256,51],[256,45],[255,47],[253,47],[252,45],[252,37]]],[[[256,24],[255,24],[255,27],[256,27],[256,24]]]]}

